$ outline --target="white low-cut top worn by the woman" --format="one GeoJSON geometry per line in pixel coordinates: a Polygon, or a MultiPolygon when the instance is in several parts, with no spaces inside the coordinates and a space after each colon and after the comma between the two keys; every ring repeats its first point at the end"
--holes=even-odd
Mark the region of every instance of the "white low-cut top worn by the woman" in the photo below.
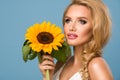
{"type": "MultiPolygon", "coordinates": [[[[60,73],[64,65],[54,74],[53,80],[59,80],[60,73]]],[[[76,72],[69,80],[82,80],[80,72],[76,72]]]]}

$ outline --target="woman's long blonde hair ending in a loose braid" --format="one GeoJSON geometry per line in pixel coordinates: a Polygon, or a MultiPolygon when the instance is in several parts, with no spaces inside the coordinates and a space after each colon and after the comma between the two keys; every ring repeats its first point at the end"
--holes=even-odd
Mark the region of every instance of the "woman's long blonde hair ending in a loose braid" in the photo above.
{"type": "Polygon", "coordinates": [[[94,57],[102,56],[102,49],[108,42],[111,35],[111,18],[107,7],[102,0],[72,0],[66,8],[63,15],[63,25],[68,9],[72,5],[82,5],[90,9],[92,14],[93,36],[91,40],[84,45],[83,49],[83,67],[81,69],[83,80],[89,79],[88,64],[94,57]]]}

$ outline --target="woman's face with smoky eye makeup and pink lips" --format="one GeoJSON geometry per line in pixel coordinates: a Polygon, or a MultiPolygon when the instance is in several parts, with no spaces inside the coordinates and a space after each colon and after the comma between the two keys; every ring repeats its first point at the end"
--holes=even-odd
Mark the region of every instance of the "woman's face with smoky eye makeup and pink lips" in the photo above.
{"type": "Polygon", "coordinates": [[[82,5],[72,5],[64,18],[64,32],[69,45],[81,46],[92,37],[91,11],[82,5]]]}

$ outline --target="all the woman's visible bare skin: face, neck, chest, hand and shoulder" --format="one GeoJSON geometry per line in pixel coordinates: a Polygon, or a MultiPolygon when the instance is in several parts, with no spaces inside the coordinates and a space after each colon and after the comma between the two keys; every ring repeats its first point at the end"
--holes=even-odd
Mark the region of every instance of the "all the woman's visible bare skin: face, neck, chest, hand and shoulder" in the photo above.
{"type": "MultiPolygon", "coordinates": [[[[60,80],[68,80],[82,67],[81,51],[83,45],[92,37],[92,17],[91,11],[82,5],[72,5],[66,13],[64,32],[69,45],[74,46],[74,56],[66,62],[61,74],[60,80]]],[[[45,80],[45,70],[50,70],[50,77],[54,75],[57,65],[49,55],[43,55],[44,60],[39,64],[39,68],[45,80]]],[[[94,58],[88,66],[91,80],[113,80],[107,63],[103,58],[94,58]],[[99,73],[98,73],[99,71],[99,73]]]]}

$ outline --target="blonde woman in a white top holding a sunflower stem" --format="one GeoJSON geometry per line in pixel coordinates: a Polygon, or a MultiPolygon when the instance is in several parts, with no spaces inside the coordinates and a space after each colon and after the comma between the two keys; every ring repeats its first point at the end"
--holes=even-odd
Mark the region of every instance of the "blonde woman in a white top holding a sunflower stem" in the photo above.
{"type": "Polygon", "coordinates": [[[43,55],[39,68],[45,80],[50,70],[51,80],[113,80],[102,58],[102,49],[110,37],[111,19],[102,0],[72,0],[63,15],[67,43],[74,47],[74,55],[66,63],[43,55]],[[44,60],[46,59],[47,60],[44,60]]]}

